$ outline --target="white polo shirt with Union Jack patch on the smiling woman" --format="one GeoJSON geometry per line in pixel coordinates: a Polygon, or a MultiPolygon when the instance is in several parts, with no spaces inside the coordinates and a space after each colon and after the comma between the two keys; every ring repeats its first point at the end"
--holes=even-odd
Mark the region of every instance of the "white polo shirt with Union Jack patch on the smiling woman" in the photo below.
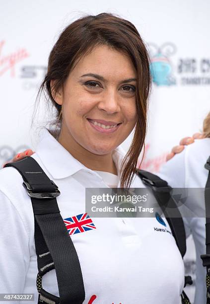
{"type": "MultiPolygon", "coordinates": [[[[118,173],[124,155],[120,147],[113,152],[118,173]]],[[[85,187],[108,187],[102,176],[72,157],[47,130],[32,157],[59,186],[57,201],[64,221],[85,213],[85,187]]],[[[139,176],[132,187],[144,187],[139,176]]],[[[34,293],[35,301],[30,303],[35,304],[34,216],[22,177],[14,168],[0,170],[0,202],[0,293],[34,293]]],[[[70,236],[81,266],[85,304],[93,295],[93,304],[181,303],[182,257],[172,234],[154,229],[163,228],[155,217],[91,219],[94,229],[70,236]]],[[[55,270],[42,282],[46,291],[59,297],[55,270]]]]}

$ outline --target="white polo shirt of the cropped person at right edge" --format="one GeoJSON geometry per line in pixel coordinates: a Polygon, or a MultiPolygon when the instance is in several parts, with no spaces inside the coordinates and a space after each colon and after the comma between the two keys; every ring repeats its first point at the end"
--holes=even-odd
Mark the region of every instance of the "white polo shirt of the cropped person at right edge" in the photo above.
{"type": "MultiPolygon", "coordinates": [[[[205,188],[209,171],[204,167],[210,156],[210,138],[195,140],[185,147],[184,151],[175,155],[156,173],[174,188],[205,188]]],[[[185,202],[190,210],[205,210],[205,199],[195,196],[185,202]],[[197,199],[198,198],[198,199],[197,199]]],[[[206,218],[184,218],[186,234],[193,235],[196,247],[196,293],[194,304],[206,303],[206,267],[202,264],[201,254],[206,254],[206,218]]]]}

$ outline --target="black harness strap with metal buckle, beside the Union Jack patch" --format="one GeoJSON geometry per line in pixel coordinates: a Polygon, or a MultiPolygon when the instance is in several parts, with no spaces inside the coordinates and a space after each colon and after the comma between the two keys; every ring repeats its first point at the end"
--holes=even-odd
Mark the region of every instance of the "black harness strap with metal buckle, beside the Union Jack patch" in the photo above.
{"type": "Polygon", "coordinates": [[[83,303],[85,292],[81,268],[57,204],[56,197],[60,195],[58,187],[33,157],[27,156],[4,167],[18,170],[31,197],[38,264],[38,304],[83,303]],[[52,269],[56,270],[60,298],[42,288],[43,275],[52,269]]]}

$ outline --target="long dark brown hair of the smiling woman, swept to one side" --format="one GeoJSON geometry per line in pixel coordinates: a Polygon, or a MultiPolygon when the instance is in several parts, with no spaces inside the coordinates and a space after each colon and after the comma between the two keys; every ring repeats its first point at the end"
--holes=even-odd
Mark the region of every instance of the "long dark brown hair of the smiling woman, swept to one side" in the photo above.
{"type": "Polygon", "coordinates": [[[147,101],[151,85],[149,56],[138,30],[130,21],[112,13],[100,13],[96,16],[85,15],[68,25],[50,53],[47,74],[37,98],[43,91],[45,92],[47,101],[57,109],[55,122],[59,122],[61,126],[61,105],[54,100],[54,97],[82,56],[90,53],[98,45],[107,45],[125,52],[130,56],[137,72],[138,120],[133,141],[120,168],[121,188],[129,189],[136,172],[140,152],[142,148],[144,150],[147,101]],[[51,80],[56,80],[52,89],[51,80]]]}

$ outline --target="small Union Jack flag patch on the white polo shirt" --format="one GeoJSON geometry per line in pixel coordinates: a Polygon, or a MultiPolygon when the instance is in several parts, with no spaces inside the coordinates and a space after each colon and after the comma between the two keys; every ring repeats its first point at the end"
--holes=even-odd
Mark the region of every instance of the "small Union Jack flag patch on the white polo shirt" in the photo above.
{"type": "Polygon", "coordinates": [[[87,213],[64,219],[64,223],[70,235],[96,229],[87,213]]]}

